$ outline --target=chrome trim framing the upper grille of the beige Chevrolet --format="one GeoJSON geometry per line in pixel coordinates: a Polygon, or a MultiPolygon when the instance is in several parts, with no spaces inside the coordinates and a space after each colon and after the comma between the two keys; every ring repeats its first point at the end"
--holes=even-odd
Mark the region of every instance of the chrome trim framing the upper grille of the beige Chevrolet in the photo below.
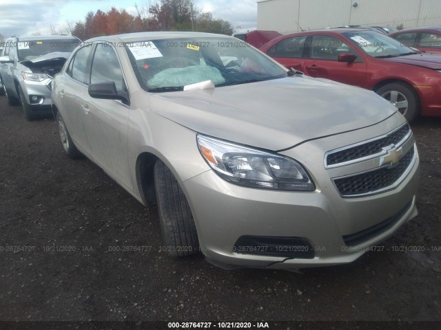
{"type": "MultiPolygon", "coordinates": [[[[402,146],[402,144],[404,144],[404,142],[409,140],[409,137],[411,137],[411,135],[412,135],[412,130],[410,129],[410,126],[407,122],[402,124],[401,126],[398,126],[396,129],[394,129],[393,131],[390,131],[387,134],[380,135],[378,137],[373,137],[372,139],[358,142],[355,144],[351,144],[349,146],[343,146],[342,148],[337,148],[337,149],[328,151],[327,153],[325,153],[325,168],[329,169],[329,168],[336,168],[336,167],[340,167],[340,166],[346,166],[349,164],[356,164],[358,162],[364,162],[365,160],[368,160],[368,159],[373,159],[376,157],[381,157],[383,155],[386,155],[387,151],[381,150],[381,151],[378,151],[378,153],[371,153],[371,154],[366,155],[364,157],[356,157],[356,158],[349,159],[344,162],[337,162],[336,164],[328,164],[328,162],[329,162],[328,159],[329,159],[329,156],[331,156],[331,155],[334,155],[336,153],[342,153],[344,151],[349,152],[350,149],[366,146],[367,144],[371,144],[371,143],[376,142],[378,140],[386,140],[394,134],[398,135],[398,131],[405,130],[405,129],[407,129],[407,133],[404,135],[404,137],[402,137],[398,142],[393,143],[397,148],[399,148],[400,146],[402,146]]],[[[382,147],[387,147],[389,145],[391,145],[391,143],[388,144],[387,141],[384,141],[384,145],[382,145],[382,147]]],[[[378,148],[381,148],[381,147],[378,147],[378,148]]]]}

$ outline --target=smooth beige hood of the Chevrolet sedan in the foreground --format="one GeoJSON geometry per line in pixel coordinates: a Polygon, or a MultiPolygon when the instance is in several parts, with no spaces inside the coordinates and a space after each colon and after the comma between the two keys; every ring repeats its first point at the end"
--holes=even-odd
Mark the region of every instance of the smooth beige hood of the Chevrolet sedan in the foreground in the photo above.
{"type": "Polygon", "coordinates": [[[196,132],[274,151],[361,129],[396,112],[373,91],[306,76],[154,94],[151,105],[196,132]]]}

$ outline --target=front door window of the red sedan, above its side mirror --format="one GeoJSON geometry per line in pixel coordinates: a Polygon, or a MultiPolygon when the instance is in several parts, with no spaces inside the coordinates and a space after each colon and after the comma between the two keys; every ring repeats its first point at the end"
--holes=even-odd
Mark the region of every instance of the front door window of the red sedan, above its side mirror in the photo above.
{"type": "Polygon", "coordinates": [[[310,52],[311,58],[328,61],[337,61],[341,53],[357,55],[351,47],[334,36],[312,36],[310,52]]]}

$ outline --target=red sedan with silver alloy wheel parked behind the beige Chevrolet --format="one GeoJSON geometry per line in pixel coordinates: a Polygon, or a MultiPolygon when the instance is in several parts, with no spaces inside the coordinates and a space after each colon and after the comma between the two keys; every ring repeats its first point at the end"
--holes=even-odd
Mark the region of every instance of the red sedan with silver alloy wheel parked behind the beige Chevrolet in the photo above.
{"type": "Polygon", "coordinates": [[[362,29],[287,34],[260,50],[290,69],[375,91],[407,120],[441,115],[441,56],[362,29]]]}

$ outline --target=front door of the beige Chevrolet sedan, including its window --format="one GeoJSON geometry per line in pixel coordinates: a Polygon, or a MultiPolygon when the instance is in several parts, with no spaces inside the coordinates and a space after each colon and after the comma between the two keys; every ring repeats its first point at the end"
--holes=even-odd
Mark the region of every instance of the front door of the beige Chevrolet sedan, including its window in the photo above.
{"type": "MultiPolygon", "coordinates": [[[[114,82],[119,94],[129,92],[119,57],[114,47],[97,43],[92,58],[90,84],[114,82]]],[[[88,137],[88,153],[116,181],[132,191],[127,160],[127,121],[130,104],[119,100],[92,98],[88,93],[81,99],[82,122],[88,137]]]]}

